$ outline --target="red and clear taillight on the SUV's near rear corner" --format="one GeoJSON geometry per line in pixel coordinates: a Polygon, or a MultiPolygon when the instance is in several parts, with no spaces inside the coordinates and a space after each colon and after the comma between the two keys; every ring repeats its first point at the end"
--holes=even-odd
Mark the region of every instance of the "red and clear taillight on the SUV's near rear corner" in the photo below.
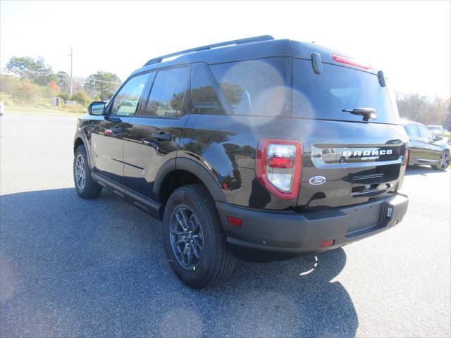
{"type": "Polygon", "coordinates": [[[302,143],[260,139],[255,160],[257,179],[280,199],[297,199],[302,172],[302,143]]]}

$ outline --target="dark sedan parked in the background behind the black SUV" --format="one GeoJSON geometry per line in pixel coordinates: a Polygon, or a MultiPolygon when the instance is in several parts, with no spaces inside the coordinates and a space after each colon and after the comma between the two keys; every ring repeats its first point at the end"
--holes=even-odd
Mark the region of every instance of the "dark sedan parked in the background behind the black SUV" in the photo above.
{"type": "Polygon", "coordinates": [[[450,165],[450,148],[443,136],[414,121],[403,120],[402,125],[409,136],[409,165],[431,165],[439,170],[450,165]]]}

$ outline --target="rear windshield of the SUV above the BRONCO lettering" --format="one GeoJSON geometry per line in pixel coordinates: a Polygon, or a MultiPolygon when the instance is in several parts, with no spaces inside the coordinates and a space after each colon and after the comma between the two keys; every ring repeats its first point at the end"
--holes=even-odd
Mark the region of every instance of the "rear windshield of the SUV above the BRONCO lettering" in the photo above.
{"type": "Polygon", "coordinates": [[[377,75],[362,70],[323,63],[314,73],[311,61],[293,61],[293,116],[326,120],[362,121],[362,116],[343,109],[374,108],[371,123],[399,123],[393,96],[381,87],[377,75]]]}

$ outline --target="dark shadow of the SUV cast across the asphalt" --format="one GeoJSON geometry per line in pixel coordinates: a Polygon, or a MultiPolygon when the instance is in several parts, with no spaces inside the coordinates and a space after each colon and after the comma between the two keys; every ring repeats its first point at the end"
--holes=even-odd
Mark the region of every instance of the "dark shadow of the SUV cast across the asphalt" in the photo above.
{"type": "Polygon", "coordinates": [[[0,197],[0,213],[2,337],[354,337],[357,331],[352,300],[333,282],[346,263],[343,249],[239,261],[227,282],[192,290],[166,262],[160,223],[109,192],[94,201],[74,189],[9,194],[0,197]]]}

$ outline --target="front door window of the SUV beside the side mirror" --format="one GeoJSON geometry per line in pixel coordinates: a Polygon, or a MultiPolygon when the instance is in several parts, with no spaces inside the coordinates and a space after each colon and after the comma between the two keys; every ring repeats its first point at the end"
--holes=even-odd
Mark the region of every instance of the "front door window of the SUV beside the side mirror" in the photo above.
{"type": "Polygon", "coordinates": [[[114,98],[111,114],[135,115],[142,89],[144,89],[148,77],[149,74],[142,74],[128,80],[114,98]]]}

